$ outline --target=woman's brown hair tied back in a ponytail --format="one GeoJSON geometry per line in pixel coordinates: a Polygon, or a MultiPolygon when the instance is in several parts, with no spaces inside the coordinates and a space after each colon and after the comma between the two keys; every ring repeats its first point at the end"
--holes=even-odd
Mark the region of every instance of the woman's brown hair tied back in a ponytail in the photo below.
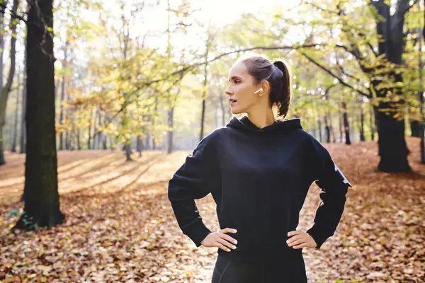
{"type": "Polygon", "coordinates": [[[248,73],[254,77],[254,83],[263,80],[270,83],[270,105],[277,107],[278,117],[288,115],[290,105],[290,69],[283,59],[273,63],[264,55],[250,55],[238,60],[245,64],[248,73]],[[280,71],[279,71],[280,70],[280,71]]]}

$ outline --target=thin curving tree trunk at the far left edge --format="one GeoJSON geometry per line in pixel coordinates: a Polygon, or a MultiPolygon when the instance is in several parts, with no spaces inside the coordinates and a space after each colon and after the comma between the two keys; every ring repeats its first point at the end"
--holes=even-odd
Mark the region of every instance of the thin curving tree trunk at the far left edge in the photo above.
{"type": "MultiPolygon", "coordinates": [[[[13,6],[12,6],[12,13],[16,13],[16,10],[18,9],[18,0],[13,0],[13,6]]],[[[4,88],[1,88],[1,94],[0,94],[0,165],[3,165],[6,163],[4,160],[4,149],[3,149],[3,127],[6,125],[6,105],[7,105],[7,98],[11,91],[11,86],[13,83],[13,76],[15,75],[15,61],[16,61],[16,21],[11,20],[11,23],[9,25],[9,29],[11,30],[11,66],[8,73],[8,78],[6,82],[6,86],[4,88]]],[[[1,30],[0,30],[1,31],[1,30]]],[[[1,66],[3,67],[3,66],[1,66]]]]}

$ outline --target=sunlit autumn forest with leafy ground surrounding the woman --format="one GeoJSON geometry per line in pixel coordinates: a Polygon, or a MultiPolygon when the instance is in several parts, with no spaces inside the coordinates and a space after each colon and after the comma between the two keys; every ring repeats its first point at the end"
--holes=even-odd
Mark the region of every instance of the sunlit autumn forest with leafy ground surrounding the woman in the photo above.
{"type": "Polygon", "coordinates": [[[424,282],[425,1],[264,2],[0,0],[0,282],[210,282],[166,183],[250,52],[288,62],[288,118],[353,183],[309,282],[424,282]]]}

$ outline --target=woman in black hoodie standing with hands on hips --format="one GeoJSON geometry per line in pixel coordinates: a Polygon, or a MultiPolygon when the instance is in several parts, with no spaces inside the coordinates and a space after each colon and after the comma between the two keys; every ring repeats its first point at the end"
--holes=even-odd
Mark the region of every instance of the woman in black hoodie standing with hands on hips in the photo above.
{"type": "Polygon", "coordinates": [[[218,248],[212,283],[307,282],[302,248],[319,249],[334,234],[351,184],[300,119],[282,120],[291,96],[284,62],[239,59],[225,93],[232,113],[246,115],[202,139],[169,180],[179,226],[197,247],[218,248]],[[314,225],[295,230],[314,181],[322,189],[314,225]],[[215,232],[194,201],[210,192],[215,232]]]}

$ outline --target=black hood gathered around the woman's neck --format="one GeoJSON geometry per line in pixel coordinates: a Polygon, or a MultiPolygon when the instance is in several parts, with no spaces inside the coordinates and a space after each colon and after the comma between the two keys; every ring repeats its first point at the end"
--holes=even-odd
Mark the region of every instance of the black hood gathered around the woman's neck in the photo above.
{"type": "Polygon", "coordinates": [[[289,131],[293,129],[302,129],[301,122],[299,118],[293,118],[288,120],[278,120],[272,125],[268,125],[260,129],[256,125],[254,125],[251,120],[249,120],[248,116],[244,116],[240,119],[233,116],[232,119],[227,123],[227,127],[232,127],[234,129],[240,129],[245,132],[282,132],[289,131]]]}

